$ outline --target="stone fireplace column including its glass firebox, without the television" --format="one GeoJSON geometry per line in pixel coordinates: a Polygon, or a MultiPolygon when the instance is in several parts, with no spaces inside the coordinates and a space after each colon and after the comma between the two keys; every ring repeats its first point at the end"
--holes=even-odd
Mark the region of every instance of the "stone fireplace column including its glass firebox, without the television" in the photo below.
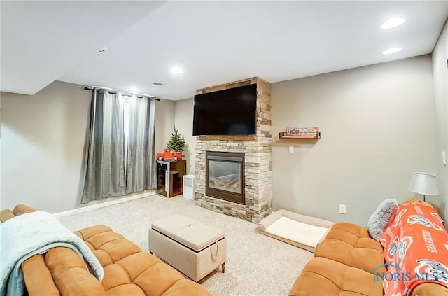
{"type": "Polygon", "coordinates": [[[255,83],[255,136],[198,136],[196,140],[196,204],[252,223],[272,210],[271,85],[255,77],[197,90],[204,94],[255,83]]]}

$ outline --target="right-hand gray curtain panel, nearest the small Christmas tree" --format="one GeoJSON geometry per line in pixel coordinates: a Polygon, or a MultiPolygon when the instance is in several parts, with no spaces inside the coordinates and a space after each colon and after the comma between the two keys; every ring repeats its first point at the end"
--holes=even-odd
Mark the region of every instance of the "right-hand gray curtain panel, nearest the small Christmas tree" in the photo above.
{"type": "Polygon", "coordinates": [[[126,192],[157,188],[154,151],[155,100],[129,98],[126,192]]]}

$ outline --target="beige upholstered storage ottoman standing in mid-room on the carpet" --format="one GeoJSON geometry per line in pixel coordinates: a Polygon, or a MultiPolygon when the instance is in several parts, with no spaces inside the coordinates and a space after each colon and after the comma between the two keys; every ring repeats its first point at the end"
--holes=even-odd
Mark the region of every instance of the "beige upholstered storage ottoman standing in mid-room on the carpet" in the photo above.
{"type": "Polygon", "coordinates": [[[227,240],[222,230],[176,214],[151,225],[149,251],[200,281],[220,265],[224,272],[227,240]]]}

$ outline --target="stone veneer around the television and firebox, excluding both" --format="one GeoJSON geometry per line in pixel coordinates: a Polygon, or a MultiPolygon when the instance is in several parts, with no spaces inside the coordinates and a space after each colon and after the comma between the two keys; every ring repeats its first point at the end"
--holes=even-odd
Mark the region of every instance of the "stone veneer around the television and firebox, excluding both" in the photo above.
{"type": "Polygon", "coordinates": [[[196,140],[196,204],[203,208],[258,223],[272,210],[271,85],[254,77],[207,87],[196,94],[257,84],[257,134],[255,136],[198,136],[196,140]],[[244,155],[246,204],[205,195],[205,152],[239,152],[244,155]]]}

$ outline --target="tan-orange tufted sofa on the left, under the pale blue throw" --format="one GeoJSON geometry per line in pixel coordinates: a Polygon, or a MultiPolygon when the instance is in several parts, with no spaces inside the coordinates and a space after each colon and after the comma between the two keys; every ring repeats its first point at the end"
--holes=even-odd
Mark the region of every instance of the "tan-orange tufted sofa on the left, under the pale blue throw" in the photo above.
{"type": "MultiPolygon", "coordinates": [[[[31,211],[34,209],[18,205],[13,211],[1,211],[0,219],[7,223],[8,219],[31,211]]],[[[75,251],[56,247],[22,263],[29,296],[211,295],[199,284],[185,279],[176,269],[150,253],[142,252],[139,246],[105,225],[87,227],[75,234],[85,241],[101,263],[104,269],[102,281],[87,270],[75,251]]]]}

